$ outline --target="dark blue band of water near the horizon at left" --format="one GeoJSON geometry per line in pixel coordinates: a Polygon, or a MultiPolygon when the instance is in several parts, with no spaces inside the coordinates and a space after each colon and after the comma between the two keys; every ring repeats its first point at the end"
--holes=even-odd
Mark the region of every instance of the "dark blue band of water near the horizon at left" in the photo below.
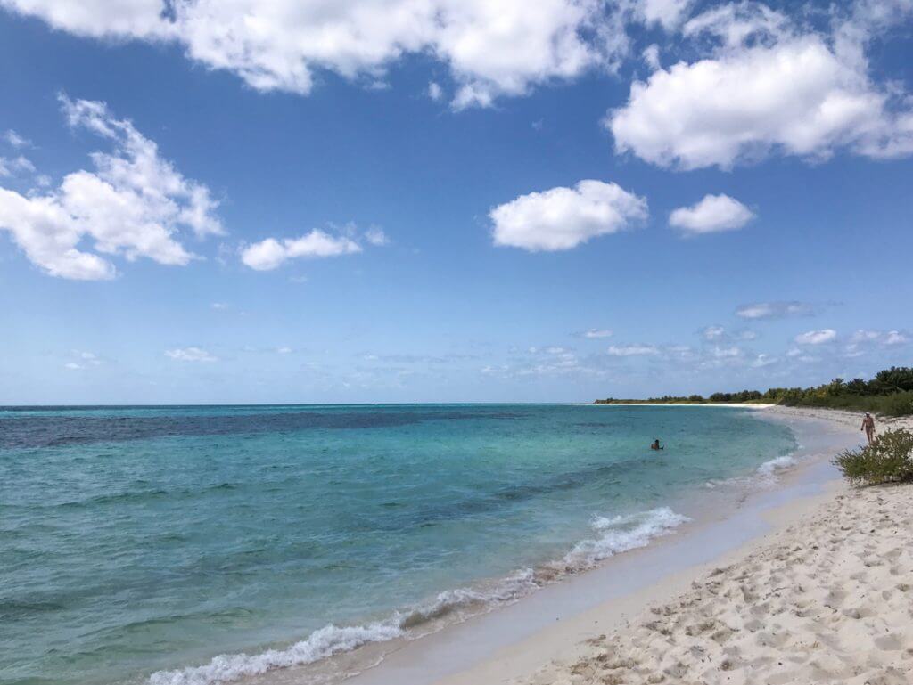
{"type": "MultiPolygon", "coordinates": [[[[34,407],[29,409],[33,412],[36,410],[34,407]]],[[[0,418],[0,450],[64,447],[91,442],[121,442],[178,436],[252,435],[308,430],[357,431],[399,428],[427,420],[513,420],[522,416],[518,412],[492,410],[290,410],[252,413],[233,411],[163,416],[86,416],[82,410],[79,411],[79,415],[52,413],[22,416],[22,408],[4,408],[4,411],[9,411],[10,415],[0,418]]]]}

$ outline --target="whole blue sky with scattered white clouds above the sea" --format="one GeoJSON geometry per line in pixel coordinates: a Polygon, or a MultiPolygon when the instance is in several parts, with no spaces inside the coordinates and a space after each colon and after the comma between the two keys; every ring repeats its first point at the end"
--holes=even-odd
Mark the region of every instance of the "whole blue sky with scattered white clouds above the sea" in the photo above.
{"type": "Polygon", "coordinates": [[[0,0],[0,404],[909,365],[910,57],[913,0],[0,0]]]}

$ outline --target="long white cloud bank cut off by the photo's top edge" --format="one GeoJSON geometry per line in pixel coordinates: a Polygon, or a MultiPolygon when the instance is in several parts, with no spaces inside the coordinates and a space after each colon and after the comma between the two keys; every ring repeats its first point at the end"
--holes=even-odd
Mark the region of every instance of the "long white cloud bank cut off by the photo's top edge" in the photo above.
{"type": "Polygon", "coordinates": [[[402,57],[429,55],[459,86],[456,107],[611,67],[626,45],[612,33],[618,10],[599,0],[173,0],[167,13],[162,0],[3,5],[79,36],[177,43],[257,90],[306,94],[326,70],[376,83],[402,57]]]}

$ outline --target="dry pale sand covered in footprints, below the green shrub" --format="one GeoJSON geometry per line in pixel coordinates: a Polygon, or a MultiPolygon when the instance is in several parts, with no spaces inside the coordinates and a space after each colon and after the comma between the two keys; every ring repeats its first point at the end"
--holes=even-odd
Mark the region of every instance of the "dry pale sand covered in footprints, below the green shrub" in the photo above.
{"type": "Polygon", "coordinates": [[[676,600],[512,682],[913,683],[913,486],[843,487],[676,600]]]}

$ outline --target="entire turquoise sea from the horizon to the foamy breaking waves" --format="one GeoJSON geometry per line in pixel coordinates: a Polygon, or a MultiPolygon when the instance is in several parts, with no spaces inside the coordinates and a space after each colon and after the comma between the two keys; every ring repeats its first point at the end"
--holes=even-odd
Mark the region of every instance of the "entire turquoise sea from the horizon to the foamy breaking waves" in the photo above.
{"type": "Polygon", "coordinates": [[[794,448],[701,407],[0,409],[0,682],[204,685],[409,634],[794,448]]]}

